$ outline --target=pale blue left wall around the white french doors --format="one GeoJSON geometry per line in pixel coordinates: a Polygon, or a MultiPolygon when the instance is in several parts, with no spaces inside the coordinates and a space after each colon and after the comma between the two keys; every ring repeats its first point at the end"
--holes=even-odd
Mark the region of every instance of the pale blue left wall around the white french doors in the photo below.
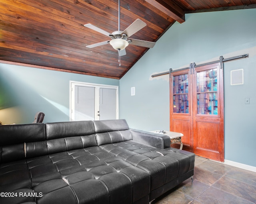
{"type": "Polygon", "coordinates": [[[26,124],[69,121],[70,80],[119,86],[119,80],[0,63],[0,121],[26,124]]]}

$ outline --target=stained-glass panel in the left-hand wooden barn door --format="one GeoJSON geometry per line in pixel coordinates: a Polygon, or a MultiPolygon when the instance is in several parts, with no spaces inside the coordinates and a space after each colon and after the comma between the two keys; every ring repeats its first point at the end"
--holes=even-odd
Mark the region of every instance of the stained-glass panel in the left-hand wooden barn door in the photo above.
{"type": "Polygon", "coordinates": [[[188,74],[173,76],[173,112],[188,113],[188,74]]]}

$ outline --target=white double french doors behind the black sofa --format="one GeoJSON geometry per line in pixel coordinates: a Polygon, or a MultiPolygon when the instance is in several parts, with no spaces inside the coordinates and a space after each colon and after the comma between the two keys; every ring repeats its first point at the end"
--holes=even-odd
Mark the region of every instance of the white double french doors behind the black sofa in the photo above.
{"type": "Polygon", "coordinates": [[[118,86],[70,81],[70,121],[118,119],[118,86]]]}

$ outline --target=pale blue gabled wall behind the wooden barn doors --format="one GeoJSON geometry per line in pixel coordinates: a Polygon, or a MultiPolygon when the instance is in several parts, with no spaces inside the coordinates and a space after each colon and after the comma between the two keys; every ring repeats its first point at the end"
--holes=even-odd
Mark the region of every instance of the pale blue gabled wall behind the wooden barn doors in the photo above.
{"type": "Polygon", "coordinates": [[[176,22],[121,78],[120,118],[132,128],[168,130],[168,75],[150,76],[245,53],[249,58],[224,63],[225,159],[256,167],[256,9],[186,14],[176,22]],[[244,69],[244,84],[231,86],[236,69],[244,69]]]}

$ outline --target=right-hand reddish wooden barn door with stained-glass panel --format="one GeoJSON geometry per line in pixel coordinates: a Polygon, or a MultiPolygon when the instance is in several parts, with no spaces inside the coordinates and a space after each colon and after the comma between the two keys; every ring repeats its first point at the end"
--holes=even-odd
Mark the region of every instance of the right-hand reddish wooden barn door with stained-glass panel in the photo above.
{"type": "Polygon", "coordinates": [[[223,105],[220,63],[196,67],[193,76],[193,149],[196,155],[224,161],[223,105]]]}

